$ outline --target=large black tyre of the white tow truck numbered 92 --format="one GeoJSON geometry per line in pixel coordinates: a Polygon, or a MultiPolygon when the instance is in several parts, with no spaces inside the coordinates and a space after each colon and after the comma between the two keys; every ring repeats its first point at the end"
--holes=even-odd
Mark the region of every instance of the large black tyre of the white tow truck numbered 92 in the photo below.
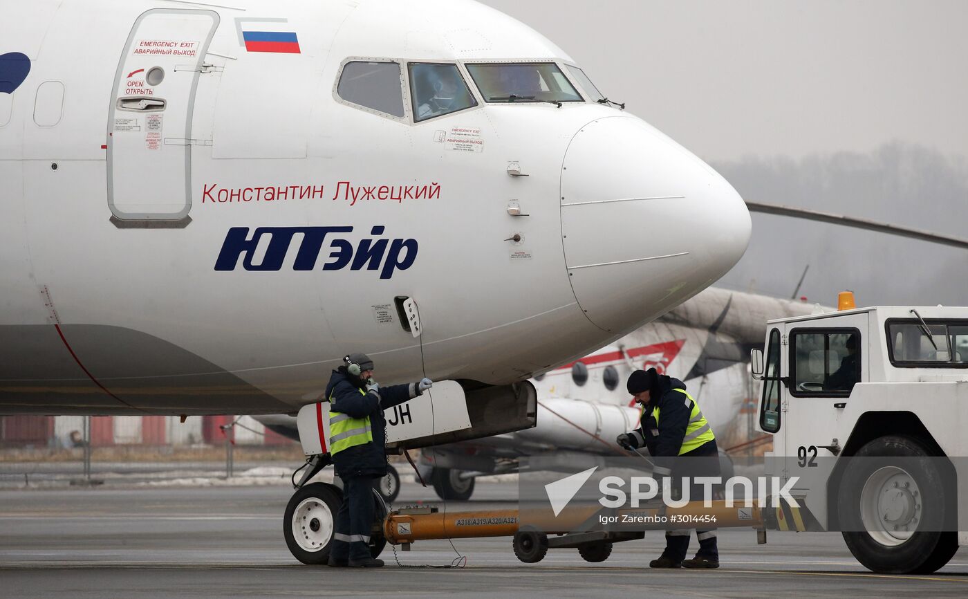
{"type": "MultiPolygon", "coordinates": [[[[880,574],[930,574],[951,560],[958,549],[957,501],[953,473],[923,442],[906,435],[889,435],[865,444],[844,469],[837,494],[838,515],[844,542],[862,565],[880,574]],[[888,524],[872,525],[877,516],[862,506],[865,486],[878,476],[899,470],[916,485],[918,524],[910,533],[896,532],[888,524]],[[920,501],[920,503],[919,503],[920,501]]],[[[885,483],[887,484],[887,483],[885,483]]],[[[896,487],[896,483],[894,483],[896,487]]],[[[906,485],[904,485],[906,488],[906,485]]],[[[887,516],[884,516],[887,519],[887,516]]]]}

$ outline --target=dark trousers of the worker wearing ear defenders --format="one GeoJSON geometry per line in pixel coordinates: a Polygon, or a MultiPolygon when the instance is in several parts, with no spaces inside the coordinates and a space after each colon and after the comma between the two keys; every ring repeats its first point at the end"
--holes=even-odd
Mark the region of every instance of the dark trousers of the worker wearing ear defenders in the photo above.
{"type": "Polygon", "coordinates": [[[358,476],[343,480],[343,503],[336,514],[330,559],[362,561],[370,554],[375,504],[374,478],[358,476]]]}

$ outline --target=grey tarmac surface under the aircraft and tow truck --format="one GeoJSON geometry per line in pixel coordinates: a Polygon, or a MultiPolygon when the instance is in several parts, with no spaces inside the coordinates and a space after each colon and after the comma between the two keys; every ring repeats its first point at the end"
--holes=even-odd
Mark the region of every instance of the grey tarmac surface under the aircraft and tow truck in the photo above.
{"type": "MultiPolygon", "coordinates": [[[[719,570],[650,570],[661,532],[620,543],[605,562],[552,550],[537,564],[514,556],[509,538],[458,539],[461,569],[431,569],[457,556],[447,541],[390,547],[376,570],[306,566],[283,539],[285,486],[44,489],[0,491],[0,596],[960,596],[968,595],[968,553],[931,576],[866,571],[839,534],[723,530],[719,570]]],[[[450,510],[513,508],[517,484],[479,483],[472,500],[450,510]]],[[[404,483],[400,507],[432,490],[404,483]]],[[[441,507],[442,509],[442,507],[441,507]]],[[[695,549],[695,538],[692,540],[695,549]]]]}

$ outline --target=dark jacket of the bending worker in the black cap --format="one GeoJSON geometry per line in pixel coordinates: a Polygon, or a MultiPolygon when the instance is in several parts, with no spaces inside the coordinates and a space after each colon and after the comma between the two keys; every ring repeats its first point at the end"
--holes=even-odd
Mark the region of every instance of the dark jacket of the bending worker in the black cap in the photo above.
{"type": "MultiPolygon", "coordinates": [[[[679,391],[685,390],[685,383],[678,378],[659,374],[658,383],[651,390],[649,405],[646,406],[645,417],[642,420],[640,434],[646,441],[649,453],[656,458],[675,458],[679,456],[682,438],[689,426],[692,407],[686,397],[679,391]],[[652,410],[659,408],[659,424],[656,426],[652,410]],[[654,434],[653,431],[658,431],[654,434]]],[[[705,456],[718,452],[715,439],[684,455],[705,456]]]]}

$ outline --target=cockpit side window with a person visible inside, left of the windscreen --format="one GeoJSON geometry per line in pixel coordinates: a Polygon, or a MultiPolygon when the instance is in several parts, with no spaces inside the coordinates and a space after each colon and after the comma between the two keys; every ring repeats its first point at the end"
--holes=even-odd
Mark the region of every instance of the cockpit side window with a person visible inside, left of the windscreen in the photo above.
{"type": "Polygon", "coordinates": [[[409,63],[409,72],[414,121],[477,105],[457,65],[409,63]]]}

